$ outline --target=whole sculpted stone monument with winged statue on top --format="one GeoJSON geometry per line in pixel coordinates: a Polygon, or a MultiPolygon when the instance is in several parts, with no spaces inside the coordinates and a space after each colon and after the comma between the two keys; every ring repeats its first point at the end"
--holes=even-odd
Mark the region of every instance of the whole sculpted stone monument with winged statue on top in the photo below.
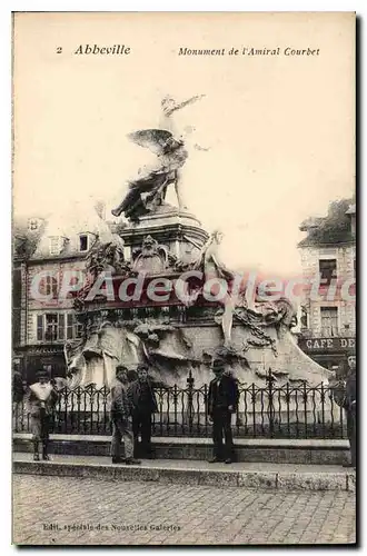
{"type": "MultiPolygon", "coordinates": [[[[199,98],[181,105],[166,99],[166,120],[199,98]]],[[[157,153],[157,165],[139,172],[112,210],[128,224],[88,256],[88,281],[75,300],[83,337],[66,345],[70,385],[109,387],[117,366],[135,369],[146,361],[165,385],[185,387],[191,370],[200,386],[211,379],[218,353],[245,384],[265,385],[269,368],[279,385],[327,381],[329,371],[297,346],[290,301],[251,302],[246,287],[234,287],[236,275],[218,256],[221,234],[209,235],[181,202],[180,168],[188,152],[185,138],[166,128],[130,136],[157,153]],[[170,185],[178,208],[165,200],[170,185]],[[206,285],[216,280],[226,290],[208,300],[206,285]],[[149,295],[152,285],[156,297],[149,295]]]]}

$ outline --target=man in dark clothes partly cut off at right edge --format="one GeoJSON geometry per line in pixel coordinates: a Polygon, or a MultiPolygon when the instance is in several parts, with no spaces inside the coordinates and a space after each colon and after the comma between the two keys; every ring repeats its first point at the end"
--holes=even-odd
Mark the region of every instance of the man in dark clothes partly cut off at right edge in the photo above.
{"type": "Polygon", "coordinates": [[[346,381],[346,396],[344,408],[347,414],[347,433],[350,445],[351,463],[347,467],[357,465],[357,388],[356,388],[356,356],[348,356],[348,376],[346,381]]]}

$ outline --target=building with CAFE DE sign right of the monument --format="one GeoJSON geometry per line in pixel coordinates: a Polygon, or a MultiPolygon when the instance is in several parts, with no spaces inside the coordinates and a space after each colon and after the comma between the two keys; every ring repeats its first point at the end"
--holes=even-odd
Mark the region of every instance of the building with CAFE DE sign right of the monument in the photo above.
{"type": "Polygon", "coordinates": [[[330,205],[325,218],[308,219],[299,242],[305,284],[299,347],[336,369],[356,347],[356,206],[330,205]]]}

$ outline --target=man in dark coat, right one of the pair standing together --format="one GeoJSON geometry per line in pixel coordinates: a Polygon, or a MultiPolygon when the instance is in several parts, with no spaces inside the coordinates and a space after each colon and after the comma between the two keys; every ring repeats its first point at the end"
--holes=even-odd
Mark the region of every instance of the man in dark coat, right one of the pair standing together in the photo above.
{"type": "Polygon", "coordinates": [[[148,367],[141,364],[137,368],[138,379],[131,383],[128,397],[132,407],[132,433],[135,454],[139,450],[141,435],[141,457],[151,458],[151,415],[158,411],[152,385],[148,378],[148,367]]]}

